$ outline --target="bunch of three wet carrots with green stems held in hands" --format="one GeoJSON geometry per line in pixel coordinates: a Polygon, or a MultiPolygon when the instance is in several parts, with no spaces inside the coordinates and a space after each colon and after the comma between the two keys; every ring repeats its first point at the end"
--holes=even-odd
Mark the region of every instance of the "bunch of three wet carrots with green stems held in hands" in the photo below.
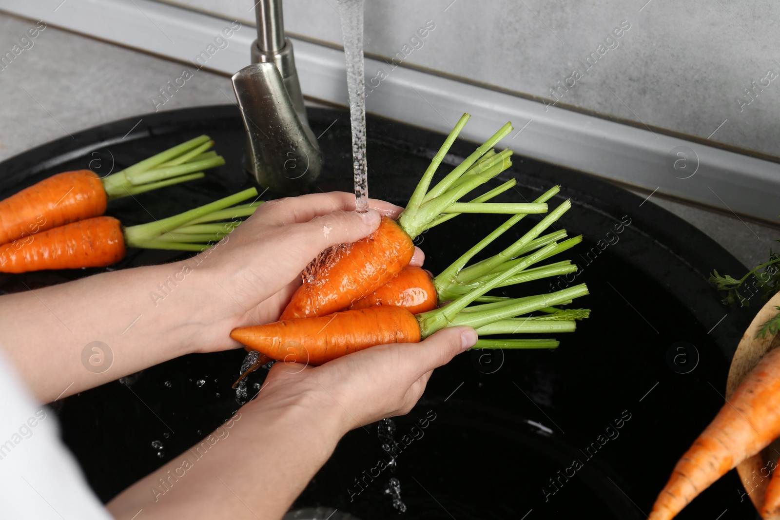
{"type": "MultiPolygon", "coordinates": [[[[527,214],[547,213],[547,201],[559,188],[555,186],[533,203],[488,203],[515,186],[510,180],[470,202],[459,201],[512,164],[512,150],[492,149],[511,132],[510,123],[431,188],[438,165],[469,117],[463,115],[447,137],[397,221],[383,217],[378,230],[367,238],[324,251],[307,267],[303,285],[278,322],[231,332],[231,338],[247,350],[261,354],[253,358],[257,360],[242,378],[268,359],[318,365],[374,345],[421,341],[444,327],[467,325],[480,337],[543,334],[574,331],[576,320],[588,317],[589,310],[557,307],[587,295],[584,284],[515,299],[486,294],[494,288],[576,271],[568,260],[537,264],[566,251],[582,237],[566,239],[566,230],[543,234],[571,207],[567,200],[501,253],[471,263],[527,214]],[[512,216],[435,278],[419,267],[410,267],[413,239],[463,213],[512,216]]],[[[557,346],[555,339],[480,338],[476,348],[557,346]]]]}

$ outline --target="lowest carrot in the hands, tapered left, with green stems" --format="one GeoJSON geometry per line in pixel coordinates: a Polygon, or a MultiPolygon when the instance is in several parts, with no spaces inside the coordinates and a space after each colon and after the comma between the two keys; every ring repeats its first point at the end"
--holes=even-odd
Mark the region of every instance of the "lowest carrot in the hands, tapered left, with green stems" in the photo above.
{"type": "MultiPolygon", "coordinates": [[[[272,359],[296,363],[321,364],[374,345],[417,342],[451,325],[474,327],[477,334],[513,334],[530,329],[534,332],[570,331],[573,320],[540,320],[526,317],[523,323],[513,320],[521,314],[548,310],[586,295],[584,284],[546,295],[507,299],[502,302],[471,306],[477,298],[499,287],[528,265],[551,253],[548,244],[490,281],[473,288],[440,309],[413,314],[398,306],[374,306],[345,310],[324,317],[294,318],[273,324],[239,327],[231,338],[272,359]],[[530,323],[527,323],[530,322],[530,323]]],[[[555,310],[557,311],[557,310],[555,310]]],[[[555,312],[554,311],[554,312],[555,312]]],[[[544,318],[544,317],[542,317],[544,318]]],[[[555,348],[555,340],[482,340],[477,348],[555,348]]]]}

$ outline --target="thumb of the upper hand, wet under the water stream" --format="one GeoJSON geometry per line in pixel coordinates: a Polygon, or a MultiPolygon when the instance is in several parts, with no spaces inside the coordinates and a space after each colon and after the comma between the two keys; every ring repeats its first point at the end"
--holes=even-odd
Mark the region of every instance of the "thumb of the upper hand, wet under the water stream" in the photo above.
{"type": "Polygon", "coordinates": [[[296,224],[302,235],[308,258],[338,244],[348,244],[364,239],[379,227],[381,217],[376,210],[365,213],[333,211],[308,222],[296,224]]]}

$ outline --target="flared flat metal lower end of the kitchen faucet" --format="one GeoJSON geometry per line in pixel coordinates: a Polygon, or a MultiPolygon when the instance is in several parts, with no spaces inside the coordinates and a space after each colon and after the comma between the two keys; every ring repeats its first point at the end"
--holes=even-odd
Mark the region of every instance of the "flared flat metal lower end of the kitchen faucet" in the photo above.
{"type": "Polygon", "coordinates": [[[246,168],[261,186],[303,193],[322,169],[322,154],[298,115],[274,63],[253,63],[232,77],[248,136],[246,168]]]}

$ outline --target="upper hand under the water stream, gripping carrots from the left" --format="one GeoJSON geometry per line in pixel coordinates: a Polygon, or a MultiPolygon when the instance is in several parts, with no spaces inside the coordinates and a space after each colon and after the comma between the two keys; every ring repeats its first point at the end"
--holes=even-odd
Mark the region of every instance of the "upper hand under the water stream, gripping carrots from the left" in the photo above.
{"type": "MultiPolygon", "coordinates": [[[[223,242],[188,260],[197,264],[193,288],[209,302],[195,320],[211,322],[196,331],[197,352],[236,348],[239,344],[229,338],[233,328],[278,320],[301,283],[301,271],[315,256],[330,246],[363,239],[378,228],[380,214],[395,218],[403,210],[381,200],[370,203],[373,210],[357,214],[350,193],[271,200],[223,242]]],[[[415,249],[412,264],[423,260],[422,251],[415,249]]],[[[182,295],[193,297],[198,299],[182,295]]]]}

